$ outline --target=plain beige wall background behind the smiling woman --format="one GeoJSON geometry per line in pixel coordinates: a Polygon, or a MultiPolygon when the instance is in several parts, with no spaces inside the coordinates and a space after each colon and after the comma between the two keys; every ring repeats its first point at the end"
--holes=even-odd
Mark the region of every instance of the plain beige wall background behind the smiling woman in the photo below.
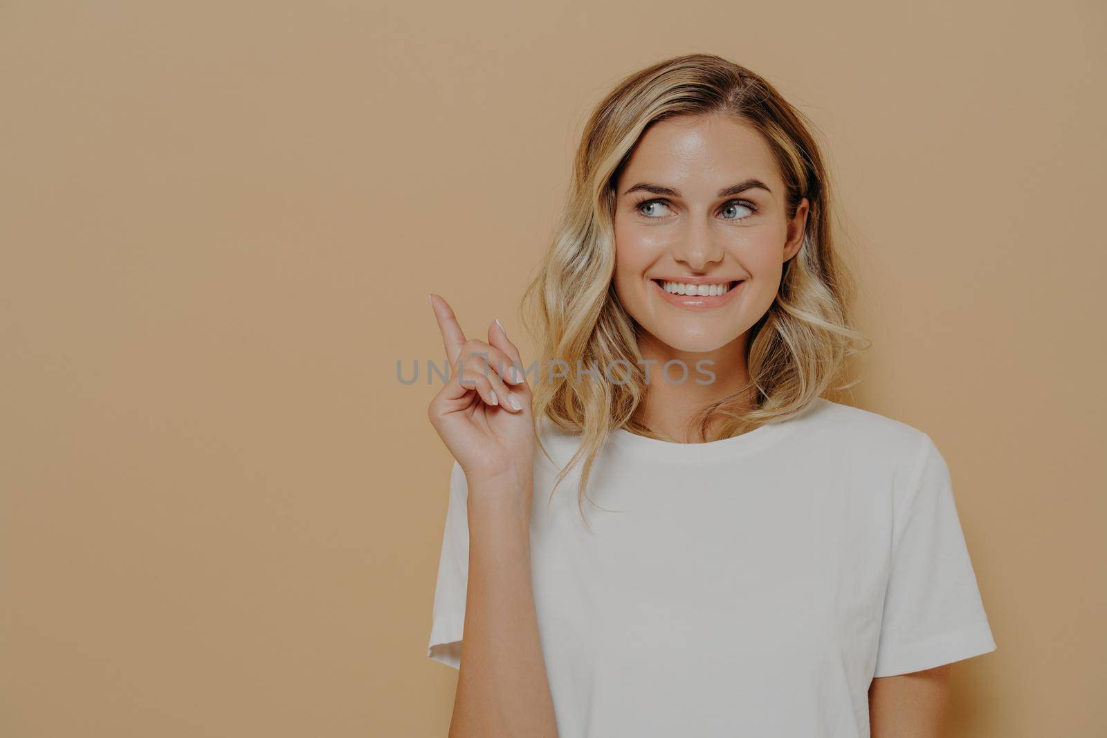
{"type": "Polygon", "coordinates": [[[426,293],[518,300],[587,112],[706,51],[816,121],[999,649],[950,736],[1107,731],[1103,3],[0,4],[0,734],[442,736],[426,293]]]}

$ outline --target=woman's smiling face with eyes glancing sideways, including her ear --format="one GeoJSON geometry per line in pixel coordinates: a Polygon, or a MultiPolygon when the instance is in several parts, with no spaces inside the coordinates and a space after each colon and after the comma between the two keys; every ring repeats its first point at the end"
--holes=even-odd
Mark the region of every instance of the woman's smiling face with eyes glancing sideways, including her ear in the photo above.
{"type": "Polygon", "coordinates": [[[807,222],[806,199],[788,220],[762,135],[720,115],[668,118],[617,187],[614,285],[627,312],[677,351],[741,339],[773,304],[807,222]]]}

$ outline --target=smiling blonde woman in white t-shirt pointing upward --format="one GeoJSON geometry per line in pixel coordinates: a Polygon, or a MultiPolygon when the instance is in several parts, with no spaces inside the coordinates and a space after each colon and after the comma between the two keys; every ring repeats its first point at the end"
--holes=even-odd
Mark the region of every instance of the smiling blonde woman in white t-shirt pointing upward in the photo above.
{"type": "Polygon", "coordinates": [[[588,123],[536,363],[431,295],[451,736],[939,735],[995,642],[931,438],[823,397],[863,340],[830,202],[768,82],[675,58],[588,123]]]}

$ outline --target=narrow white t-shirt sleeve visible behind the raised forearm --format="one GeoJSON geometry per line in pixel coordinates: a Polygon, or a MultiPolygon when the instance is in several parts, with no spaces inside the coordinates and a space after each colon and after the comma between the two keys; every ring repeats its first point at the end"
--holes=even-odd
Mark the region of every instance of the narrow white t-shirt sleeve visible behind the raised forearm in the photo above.
{"type": "Polygon", "coordinates": [[[457,461],[449,472],[449,501],[442,536],[438,579],[434,588],[434,612],[426,655],[443,664],[462,667],[462,631],[469,573],[468,486],[457,461]]]}

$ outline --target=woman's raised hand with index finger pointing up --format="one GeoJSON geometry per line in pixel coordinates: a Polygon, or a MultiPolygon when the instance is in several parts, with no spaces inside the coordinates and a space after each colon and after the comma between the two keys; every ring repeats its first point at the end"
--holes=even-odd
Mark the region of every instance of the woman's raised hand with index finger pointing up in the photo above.
{"type": "Polygon", "coordinates": [[[498,321],[487,342],[466,339],[445,300],[432,294],[431,306],[449,361],[449,381],[427,408],[431,425],[470,482],[530,475],[534,416],[518,349],[498,321]]]}

